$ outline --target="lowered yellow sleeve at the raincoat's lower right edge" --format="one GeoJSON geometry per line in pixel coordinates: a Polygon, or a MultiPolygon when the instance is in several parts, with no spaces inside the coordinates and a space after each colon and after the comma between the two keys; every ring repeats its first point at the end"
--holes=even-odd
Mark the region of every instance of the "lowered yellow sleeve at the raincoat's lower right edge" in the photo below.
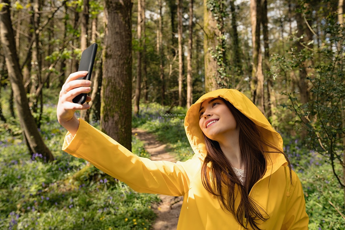
{"type": "Polygon", "coordinates": [[[309,217],[305,211],[305,199],[302,184],[298,176],[292,171],[293,185],[290,188],[290,197],[287,203],[286,216],[282,229],[306,230],[308,229],[309,217]]]}

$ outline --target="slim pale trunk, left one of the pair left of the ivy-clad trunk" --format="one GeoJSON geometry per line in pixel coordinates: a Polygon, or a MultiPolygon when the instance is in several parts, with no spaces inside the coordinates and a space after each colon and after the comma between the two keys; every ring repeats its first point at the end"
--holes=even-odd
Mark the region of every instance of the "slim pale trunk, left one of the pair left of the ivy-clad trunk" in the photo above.
{"type": "Polygon", "coordinates": [[[182,49],[182,0],[177,0],[178,18],[178,105],[182,106],[182,85],[183,85],[183,49],[182,49]]]}

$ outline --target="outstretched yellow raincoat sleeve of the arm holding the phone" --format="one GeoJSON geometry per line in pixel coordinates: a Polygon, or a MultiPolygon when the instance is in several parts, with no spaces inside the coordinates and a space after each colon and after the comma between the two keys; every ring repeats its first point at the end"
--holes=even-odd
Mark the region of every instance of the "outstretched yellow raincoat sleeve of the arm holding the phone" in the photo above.
{"type": "Polygon", "coordinates": [[[139,157],[81,119],[76,135],[69,144],[65,138],[62,150],[89,161],[138,192],[180,196],[188,191],[185,167],[191,160],[172,163],[139,157]]]}

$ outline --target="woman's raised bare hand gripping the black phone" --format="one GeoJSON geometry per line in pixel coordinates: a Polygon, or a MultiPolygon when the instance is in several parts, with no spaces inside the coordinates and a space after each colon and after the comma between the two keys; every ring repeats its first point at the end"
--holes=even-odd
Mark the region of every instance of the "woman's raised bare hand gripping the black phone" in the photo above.
{"type": "MultiPolygon", "coordinates": [[[[91,91],[91,81],[89,80],[77,80],[80,77],[85,77],[87,71],[78,71],[72,73],[66,79],[63,84],[59,95],[59,102],[56,109],[56,114],[59,123],[65,127],[73,136],[78,130],[78,119],[74,116],[76,110],[89,109],[88,104],[73,103],[72,100],[81,93],[89,93],[91,91]]],[[[86,102],[90,102],[91,97],[87,96],[86,102]]]]}

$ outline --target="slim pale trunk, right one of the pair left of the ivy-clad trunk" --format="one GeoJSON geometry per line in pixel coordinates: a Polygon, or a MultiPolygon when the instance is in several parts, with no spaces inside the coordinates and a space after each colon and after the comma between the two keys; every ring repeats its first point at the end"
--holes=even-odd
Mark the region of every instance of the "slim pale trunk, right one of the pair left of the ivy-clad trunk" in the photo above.
{"type": "Polygon", "coordinates": [[[187,53],[187,109],[193,104],[192,50],[193,49],[193,0],[189,3],[189,37],[187,53]]]}

